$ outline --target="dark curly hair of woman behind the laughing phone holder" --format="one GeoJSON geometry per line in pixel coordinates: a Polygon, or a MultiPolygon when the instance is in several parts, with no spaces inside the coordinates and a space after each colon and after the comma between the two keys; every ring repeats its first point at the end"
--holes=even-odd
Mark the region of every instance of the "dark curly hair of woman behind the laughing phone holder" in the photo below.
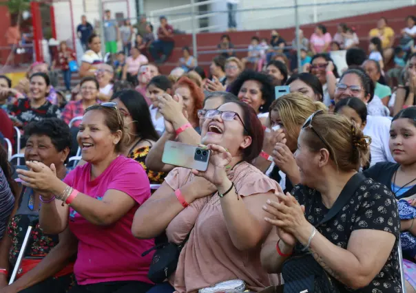
{"type": "Polygon", "coordinates": [[[267,113],[269,111],[271,102],[273,102],[275,99],[274,86],[271,77],[262,72],[255,72],[251,69],[247,69],[242,72],[236,80],[234,80],[234,82],[231,84],[229,92],[238,96],[242,85],[247,80],[256,80],[261,83],[262,87],[260,90],[262,91],[262,99],[264,100],[264,105],[260,107],[260,112],[267,113]]]}

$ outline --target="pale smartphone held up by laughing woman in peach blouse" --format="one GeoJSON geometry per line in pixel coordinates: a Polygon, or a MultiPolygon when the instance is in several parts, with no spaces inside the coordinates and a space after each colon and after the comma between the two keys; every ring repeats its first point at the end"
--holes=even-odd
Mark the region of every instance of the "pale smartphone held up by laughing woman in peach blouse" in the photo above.
{"type": "Polygon", "coordinates": [[[210,151],[191,144],[168,140],[163,150],[162,162],[187,169],[207,171],[210,151]]]}

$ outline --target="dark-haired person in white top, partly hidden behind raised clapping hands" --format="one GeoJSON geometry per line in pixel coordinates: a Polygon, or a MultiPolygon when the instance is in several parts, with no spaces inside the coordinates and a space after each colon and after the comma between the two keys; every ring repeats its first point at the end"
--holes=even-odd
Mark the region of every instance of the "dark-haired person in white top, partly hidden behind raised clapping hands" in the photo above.
{"type": "Polygon", "coordinates": [[[165,132],[165,119],[158,108],[158,96],[163,94],[170,95],[172,93],[172,87],[173,85],[169,78],[163,75],[155,76],[147,85],[147,96],[152,101],[152,105],[149,107],[150,117],[159,135],[165,132]]]}

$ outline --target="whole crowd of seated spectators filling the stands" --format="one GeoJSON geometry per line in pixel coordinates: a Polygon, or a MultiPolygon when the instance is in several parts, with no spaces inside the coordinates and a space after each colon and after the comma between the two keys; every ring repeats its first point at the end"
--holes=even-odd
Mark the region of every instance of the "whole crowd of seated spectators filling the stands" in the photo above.
{"type": "Polygon", "coordinates": [[[0,140],[24,156],[0,146],[0,293],[416,292],[414,44],[392,88],[384,38],[380,59],[340,25],[338,76],[326,34],[302,73],[277,32],[251,69],[223,36],[209,78],[187,47],[169,75],[138,45],[104,63],[92,33],[70,100],[48,64],[0,76],[0,140]],[[206,171],[163,162],[169,141],[206,171]]]}

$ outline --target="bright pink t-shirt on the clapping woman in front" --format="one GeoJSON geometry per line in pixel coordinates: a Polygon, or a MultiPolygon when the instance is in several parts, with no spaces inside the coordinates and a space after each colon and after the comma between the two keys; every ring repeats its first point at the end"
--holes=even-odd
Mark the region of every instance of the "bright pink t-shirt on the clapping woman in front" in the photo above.
{"type": "Polygon", "coordinates": [[[123,191],[138,204],[116,223],[96,226],[70,209],[70,230],[79,239],[74,265],[80,285],[110,281],[142,281],[147,278],[153,254],[141,254],[154,246],[154,239],[132,235],[134,213],[150,197],[149,179],[138,162],[120,155],[95,180],[90,180],[91,164],[78,166],[64,182],[77,191],[101,200],[110,189],[123,191]]]}

